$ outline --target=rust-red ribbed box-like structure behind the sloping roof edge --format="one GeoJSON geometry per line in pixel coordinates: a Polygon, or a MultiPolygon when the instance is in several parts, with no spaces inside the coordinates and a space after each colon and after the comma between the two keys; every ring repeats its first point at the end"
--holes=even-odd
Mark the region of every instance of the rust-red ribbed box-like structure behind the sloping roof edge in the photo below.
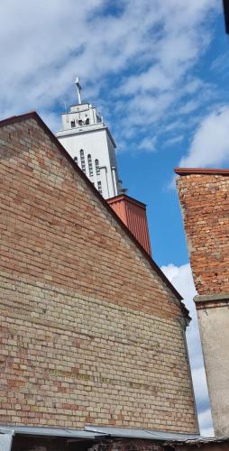
{"type": "Polygon", "coordinates": [[[107,199],[108,204],[112,207],[117,216],[122,219],[124,225],[132,232],[144,250],[151,255],[151,242],[147,224],[146,206],[121,194],[115,198],[107,199]]]}

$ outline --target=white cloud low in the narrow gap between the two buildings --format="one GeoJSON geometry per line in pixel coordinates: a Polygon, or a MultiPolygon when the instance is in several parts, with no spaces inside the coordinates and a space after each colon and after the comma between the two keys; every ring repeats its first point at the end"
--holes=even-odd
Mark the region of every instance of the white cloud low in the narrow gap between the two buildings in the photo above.
{"type": "Polygon", "coordinates": [[[188,354],[191,365],[192,379],[197,402],[198,421],[202,435],[212,435],[212,418],[209,408],[208,392],[206,387],[206,373],[204,369],[203,354],[199,337],[197,312],[194,296],[195,290],[190,265],[176,266],[170,263],[162,266],[161,270],[166,274],[169,281],[179,290],[185,304],[190,312],[192,321],[187,330],[188,354]]]}

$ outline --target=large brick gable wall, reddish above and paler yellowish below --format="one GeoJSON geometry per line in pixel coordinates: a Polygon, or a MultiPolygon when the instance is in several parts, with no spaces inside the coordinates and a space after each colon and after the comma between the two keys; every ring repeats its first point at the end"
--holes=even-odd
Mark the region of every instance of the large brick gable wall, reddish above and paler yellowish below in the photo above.
{"type": "Polygon", "coordinates": [[[176,292],[35,116],[0,144],[0,423],[195,432],[176,292]]]}

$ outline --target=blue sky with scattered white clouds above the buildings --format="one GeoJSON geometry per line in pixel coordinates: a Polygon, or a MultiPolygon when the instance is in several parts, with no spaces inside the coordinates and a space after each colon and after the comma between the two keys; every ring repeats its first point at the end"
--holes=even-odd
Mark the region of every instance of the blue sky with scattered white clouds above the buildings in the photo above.
{"type": "Polygon", "coordinates": [[[229,163],[229,40],[219,0],[7,0],[0,15],[0,117],[37,110],[53,132],[94,103],[117,143],[129,194],[148,205],[153,258],[187,299],[202,431],[211,432],[191,302],[176,166],[229,163]]]}

